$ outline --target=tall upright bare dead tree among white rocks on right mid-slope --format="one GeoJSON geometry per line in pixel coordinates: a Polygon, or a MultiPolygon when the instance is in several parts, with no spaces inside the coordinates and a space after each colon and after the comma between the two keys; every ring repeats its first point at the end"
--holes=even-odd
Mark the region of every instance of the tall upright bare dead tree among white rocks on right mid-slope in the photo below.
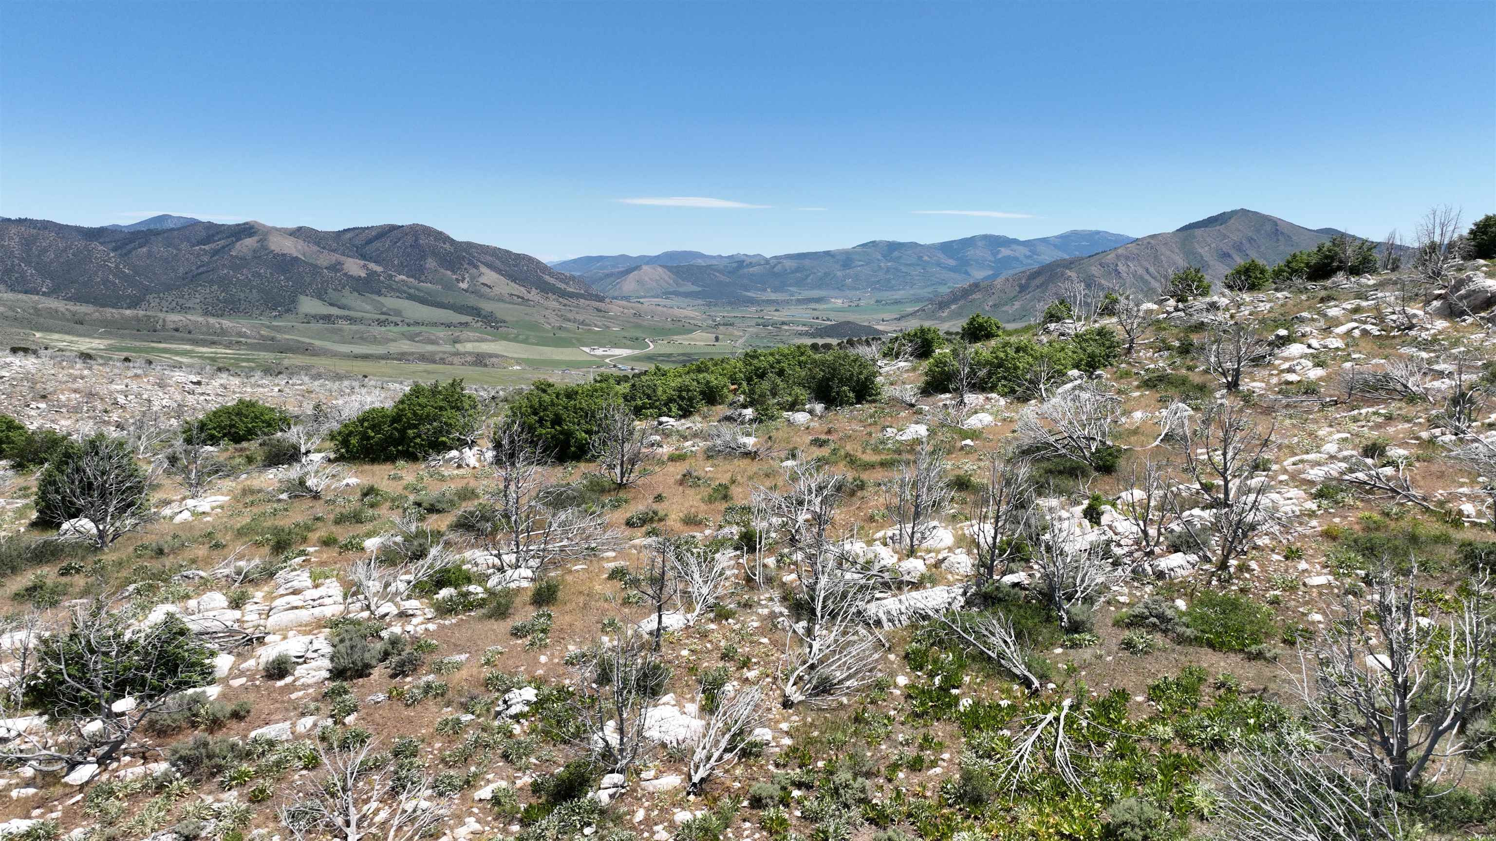
{"type": "Polygon", "coordinates": [[[1195,415],[1185,428],[1180,468],[1192,485],[1170,489],[1168,504],[1182,534],[1215,560],[1215,573],[1228,576],[1258,534],[1276,534],[1281,518],[1267,504],[1270,488],[1257,477],[1272,464],[1273,423],[1264,429],[1237,403],[1221,403],[1195,415]]]}

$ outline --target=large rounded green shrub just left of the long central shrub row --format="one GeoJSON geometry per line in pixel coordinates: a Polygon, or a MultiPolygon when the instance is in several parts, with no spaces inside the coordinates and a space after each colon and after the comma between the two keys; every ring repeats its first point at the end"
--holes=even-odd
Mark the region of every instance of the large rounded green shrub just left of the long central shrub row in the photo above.
{"type": "Polygon", "coordinates": [[[414,461],[467,446],[477,415],[477,398],[462,391],[462,380],[416,383],[395,406],[365,410],[329,440],[340,458],[414,461]]]}

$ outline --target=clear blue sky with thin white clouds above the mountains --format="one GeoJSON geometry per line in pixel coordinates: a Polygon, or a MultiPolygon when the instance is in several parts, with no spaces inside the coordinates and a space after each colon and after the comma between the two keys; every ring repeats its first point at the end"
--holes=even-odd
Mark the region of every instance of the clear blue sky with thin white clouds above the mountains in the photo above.
{"type": "Polygon", "coordinates": [[[543,259],[1237,207],[1379,236],[1496,211],[1492,43],[1489,0],[10,1],[0,215],[420,221],[543,259]]]}

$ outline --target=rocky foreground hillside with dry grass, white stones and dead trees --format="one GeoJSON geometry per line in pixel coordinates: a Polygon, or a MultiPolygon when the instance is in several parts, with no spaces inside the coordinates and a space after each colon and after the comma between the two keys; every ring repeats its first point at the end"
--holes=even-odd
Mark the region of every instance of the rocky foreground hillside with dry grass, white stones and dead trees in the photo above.
{"type": "Polygon", "coordinates": [[[621,422],[554,400],[582,386],[411,391],[350,435],[399,395],[0,359],[25,428],[130,434],[171,389],[292,415],[205,480],[174,416],[130,450],[148,516],[102,546],[43,519],[36,467],[0,473],[0,655],[31,687],[0,697],[0,835],[341,837],[352,810],[449,841],[1486,837],[1486,753],[1364,750],[1394,709],[1427,712],[1415,744],[1496,712],[1496,268],[1409,280],[923,331],[856,344],[862,404],[621,422]],[[401,419],[495,423],[334,446],[401,419]],[[88,639],[171,667],[49,682],[88,639]]]}

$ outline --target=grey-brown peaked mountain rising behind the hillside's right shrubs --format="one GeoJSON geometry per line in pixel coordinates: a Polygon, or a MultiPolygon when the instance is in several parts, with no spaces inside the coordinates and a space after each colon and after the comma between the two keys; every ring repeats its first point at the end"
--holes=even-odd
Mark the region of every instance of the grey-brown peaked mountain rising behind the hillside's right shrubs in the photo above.
{"type": "Polygon", "coordinates": [[[1168,275],[1186,265],[1200,266],[1212,281],[1219,283],[1225,272],[1249,259],[1278,263],[1337,233],[1333,227],[1309,229],[1239,208],[1098,254],[1061,259],[1007,277],[969,283],[935,298],[907,319],[953,322],[986,313],[1002,322],[1025,322],[1043,311],[1053,301],[1056,287],[1067,280],[1080,280],[1095,289],[1156,295],[1168,275]]]}

